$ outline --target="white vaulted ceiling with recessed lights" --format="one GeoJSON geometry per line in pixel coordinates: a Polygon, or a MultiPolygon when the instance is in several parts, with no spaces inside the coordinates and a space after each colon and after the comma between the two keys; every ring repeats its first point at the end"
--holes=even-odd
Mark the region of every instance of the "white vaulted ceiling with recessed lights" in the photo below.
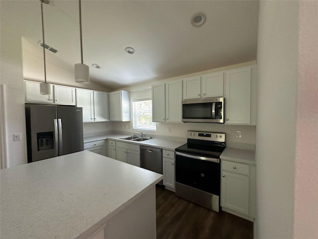
{"type": "MultiPolygon", "coordinates": [[[[17,27],[38,44],[40,1],[26,2],[25,10],[14,14],[29,17],[17,27]]],[[[80,63],[79,2],[51,0],[43,7],[45,43],[58,50],[48,54],[74,72],[74,64],[80,63]]],[[[257,0],[82,0],[84,64],[89,65],[91,81],[119,89],[252,61],[257,25],[257,0]],[[203,26],[193,27],[190,20],[198,12],[207,19],[203,26]],[[136,54],[126,53],[127,46],[136,54]]]]}

